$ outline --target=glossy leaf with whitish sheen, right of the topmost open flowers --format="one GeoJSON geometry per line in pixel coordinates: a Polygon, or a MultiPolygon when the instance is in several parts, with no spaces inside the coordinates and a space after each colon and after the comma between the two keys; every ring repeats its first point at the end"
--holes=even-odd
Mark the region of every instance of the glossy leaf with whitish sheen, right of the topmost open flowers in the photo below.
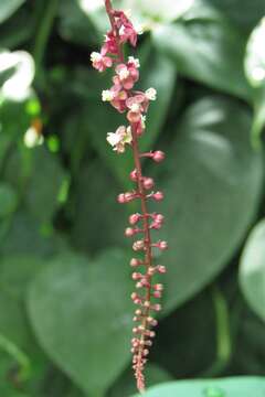
{"type": "Polygon", "coordinates": [[[243,71],[245,37],[221,17],[214,20],[194,17],[163,25],[153,31],[152,37],[183,76],[250,98],[243,71]]]}

